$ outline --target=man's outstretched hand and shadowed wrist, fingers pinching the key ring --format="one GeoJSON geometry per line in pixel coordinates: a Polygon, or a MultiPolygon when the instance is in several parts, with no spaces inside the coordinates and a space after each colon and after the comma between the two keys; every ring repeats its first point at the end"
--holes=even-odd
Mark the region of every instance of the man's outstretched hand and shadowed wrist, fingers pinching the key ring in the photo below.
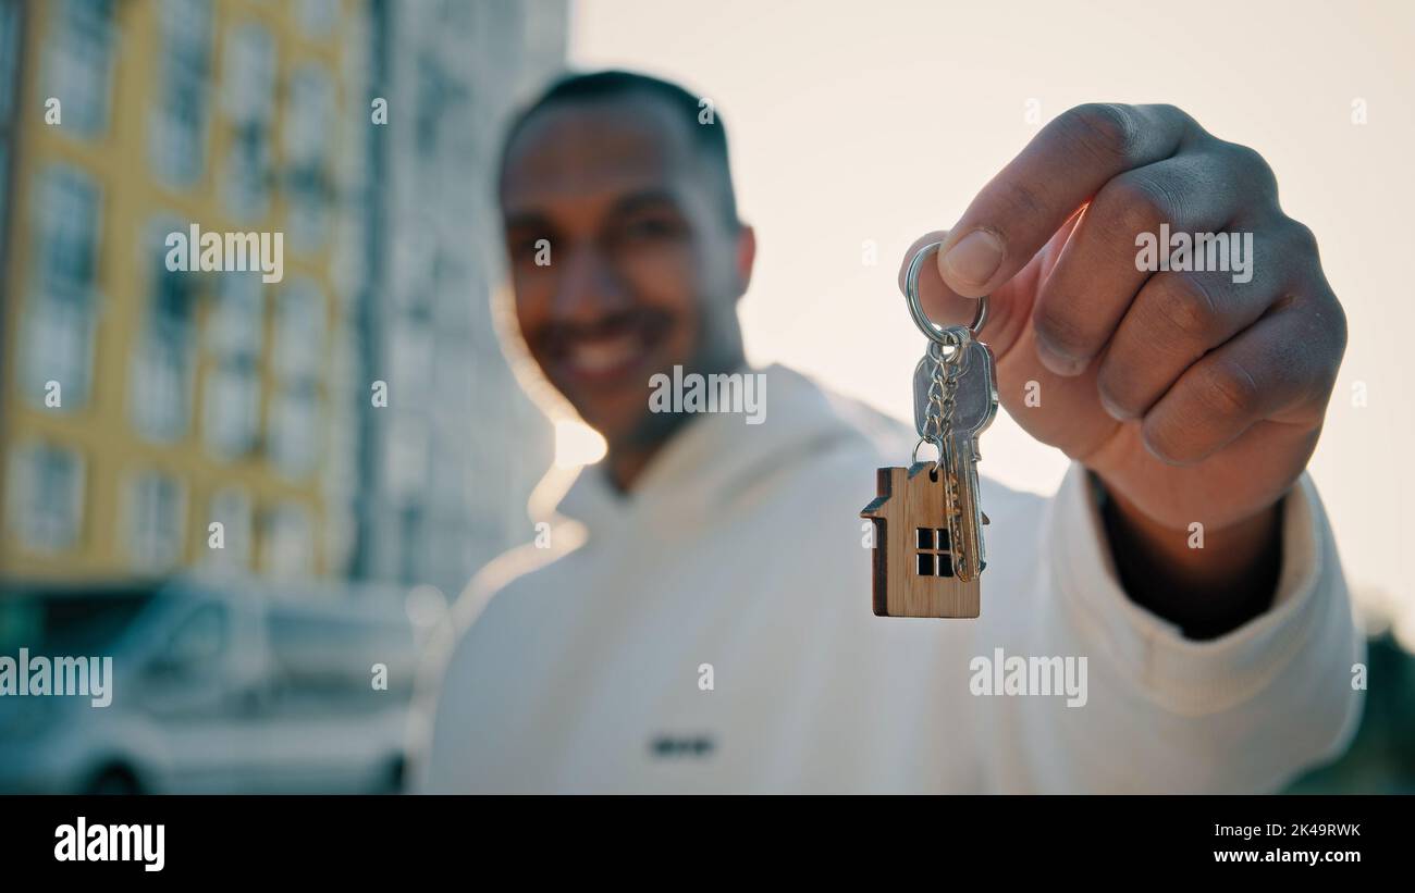
{"type": "Polygon", "coordinates": [[[940,237],[924,308],[966,324],[972,298],[992,295],[982,341],[1002,404],[1104,482],[1129,595],[1210,634],[1262,610],[1276,506],[1316,446],[1346,349],[1316,240],[1278,206],[1266,162],[1173,106],[1078,106],[906,263],[940,237]],[[1138,268],[1138,236],[1162,225],[1240,244],[1252,233],[1251,280],[1138,268]],[[1196,521],[1201,551],[1187,547],[1196,521]],[[1264,581],[1262,603],[1238,605],[1264,581]]]}

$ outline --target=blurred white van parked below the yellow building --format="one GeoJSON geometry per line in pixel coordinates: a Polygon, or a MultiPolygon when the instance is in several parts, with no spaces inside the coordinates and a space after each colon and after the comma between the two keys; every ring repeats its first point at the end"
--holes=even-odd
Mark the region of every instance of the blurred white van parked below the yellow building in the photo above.
{"type": "Polygon", "coordinates": [[[0,695],[0,791],[398,791],[420,639],[389,589],[6,584],[0,656],[113,661],[108,706],[0,695]]]}

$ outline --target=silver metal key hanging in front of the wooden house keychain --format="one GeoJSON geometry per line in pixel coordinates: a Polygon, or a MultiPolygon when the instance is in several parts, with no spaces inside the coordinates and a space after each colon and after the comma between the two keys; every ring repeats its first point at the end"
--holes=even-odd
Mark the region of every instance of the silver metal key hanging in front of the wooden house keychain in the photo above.
{"type": "Polygon", "coordinates": [[[988,523],[978,493],[978,435],[998,415],[996,366],[992,350],[971,341],[954,393],[955,410],[944,438],[944,466],[949,478],[948,531],[958,579],[972,582],[988,567],[982,527],[988,523]]]}

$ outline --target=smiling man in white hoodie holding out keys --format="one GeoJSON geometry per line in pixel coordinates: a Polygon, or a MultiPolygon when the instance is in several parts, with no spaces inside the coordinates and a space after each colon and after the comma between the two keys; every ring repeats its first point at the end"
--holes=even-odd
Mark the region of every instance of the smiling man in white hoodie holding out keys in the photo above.
{"type": "Polygon", "coordinates": [[[458,603],[423,790],[1265,791],[1344,747],[1363,644],[1303,475],[1344,321],[1251,150],[1081,106],[916,244],[934,319],[992,295],[1003,406],[1074,459],[1051,499],[983,480],[978,620],[872,615],[859,511],[904,425],[782,367],[764,424],[649,410],[674,366],[747,370],[756,243],[693,95],[560,82],[499,201],[521,333],[608,455],[458,603]],[[1139,271],[1160,223],[1254,233],[1251,281],[1139,271]]]}

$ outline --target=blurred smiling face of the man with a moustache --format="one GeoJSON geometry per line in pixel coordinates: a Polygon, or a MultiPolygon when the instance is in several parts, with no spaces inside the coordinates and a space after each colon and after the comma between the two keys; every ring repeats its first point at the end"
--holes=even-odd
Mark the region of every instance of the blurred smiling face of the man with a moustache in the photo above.
{"type": "Polygon", "coordinates": [[[666,424],[648,413],[654,373],[741,363],[736,301],[751,233],[730,219],[727,177],[691,126],[655,96],[552,103],[507,151],[501,209],[521,333],[611,448],[666,424]]]}

